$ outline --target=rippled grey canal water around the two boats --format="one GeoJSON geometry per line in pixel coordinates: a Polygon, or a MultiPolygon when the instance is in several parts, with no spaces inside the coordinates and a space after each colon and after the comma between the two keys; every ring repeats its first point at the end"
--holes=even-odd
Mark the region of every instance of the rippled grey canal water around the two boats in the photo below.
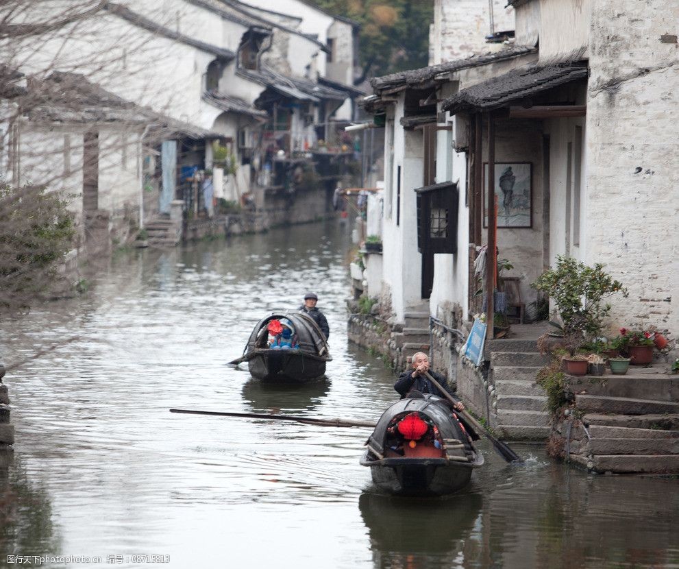
{"type": "Polygon", "coordinates": [[[367,428],[169,413],[376,420],[394,376],[347,342],[353,247],[333,220],[127,252],[83,297],[4,322],[8,364],[71,341],[5,377],[16,450],[0,468],[0,566],[679,567],[676,479],[593,476],[521,444],[526,463],[507,465],[484,442],[459,494],[397,499],[358,464],[367,428]],[[306,290],[330,322],[327,381],[274,389],[226,365],[306,290]]]}

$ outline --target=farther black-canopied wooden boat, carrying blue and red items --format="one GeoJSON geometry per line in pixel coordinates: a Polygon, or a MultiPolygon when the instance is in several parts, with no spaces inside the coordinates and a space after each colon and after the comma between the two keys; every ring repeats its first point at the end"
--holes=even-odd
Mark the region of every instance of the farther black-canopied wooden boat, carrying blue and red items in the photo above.
{"type": "Polygon", "coordinates": [[[252,330],[243,356],[252,376],[273,383],[307,383],[325,376],[325,363],[332,361],[328,342],[316,322],[306,314],[277,313],[262,318],[252,330]],[[269,324],[285,320],[293,328],[295,349],[269,347],[269,324]]]}

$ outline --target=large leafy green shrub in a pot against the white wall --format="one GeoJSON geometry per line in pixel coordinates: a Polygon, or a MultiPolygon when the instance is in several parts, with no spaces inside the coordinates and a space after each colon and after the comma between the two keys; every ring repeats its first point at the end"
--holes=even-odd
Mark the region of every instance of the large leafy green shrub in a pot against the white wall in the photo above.
{"type": "Polygon", "coordinates": [[[627,296],[627,290],[604,271],[601,263],[588,267],[566,256],[558,256],[556,267],[530,286],[550,296],[563,322],[564,337],[572,336],[580,343],[601,335],[602,322],[610,311],[604,299],[615,293],[627,296]]]}

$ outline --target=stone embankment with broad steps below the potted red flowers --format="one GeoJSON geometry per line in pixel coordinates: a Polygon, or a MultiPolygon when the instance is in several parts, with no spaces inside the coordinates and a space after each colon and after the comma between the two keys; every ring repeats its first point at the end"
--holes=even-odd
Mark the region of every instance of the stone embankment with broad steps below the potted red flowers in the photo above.
{"type": "Polygon", "coordinates": [[[567,376],[550,450],[593,472],[679,474],[679,376],[668,365],[567,376]]]}

